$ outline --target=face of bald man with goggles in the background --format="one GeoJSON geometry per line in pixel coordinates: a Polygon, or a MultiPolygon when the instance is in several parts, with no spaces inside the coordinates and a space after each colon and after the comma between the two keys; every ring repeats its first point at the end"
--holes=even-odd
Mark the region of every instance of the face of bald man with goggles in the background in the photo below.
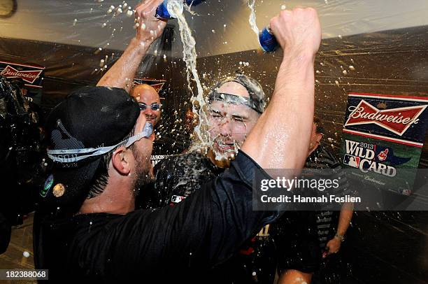
{"type": "Polygon", "coordinates": [[[160,108],[157,108],[157,106],[160,106],[160,98],[156,90],[150,85],[136,85],[131,90],[131,96],[134,97],[141,106],[145,107],[142,113],[145,115],[146,120],[155,127],[161,117],[160,108]]]}

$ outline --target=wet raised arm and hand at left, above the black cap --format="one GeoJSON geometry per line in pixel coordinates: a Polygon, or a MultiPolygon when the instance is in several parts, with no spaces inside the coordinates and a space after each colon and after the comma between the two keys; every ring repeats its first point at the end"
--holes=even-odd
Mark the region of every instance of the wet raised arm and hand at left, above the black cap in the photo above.
{"type": "Polygon", "coordinates": [[[136,36],[117,62],[99,80],[97,86],[120,87],[129,92],[138,66],[148,48],[164,31],[166,22],[155,17],[162,0],[146,0],[136,6],[136,36]]]}

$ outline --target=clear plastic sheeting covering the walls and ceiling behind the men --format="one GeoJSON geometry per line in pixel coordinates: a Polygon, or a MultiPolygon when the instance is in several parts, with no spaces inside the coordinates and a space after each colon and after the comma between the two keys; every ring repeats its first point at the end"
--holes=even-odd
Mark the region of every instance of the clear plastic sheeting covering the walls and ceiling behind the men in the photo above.
{"type": "MultiPolygon", "coordinates": [[[[0,59],[45,66],[42,106],[51,108],[74,88],[94,85],[104,65],[108,68],[120,56],[135,32],[127,10],[136,3],[19,1],[15,14],[0,19],[0,59]],[[120,5],[122,13],[117,12],[120,5]]],[[[334,150],[340,143],[348,92],[427,95],[427,1],[256,0],[259,29],[281,6],[313,6],[320,14],[323,41],[315,67],[316,112],[334,150]]],[[[192,10],[193,15],[185,13],[197,40],[199,77],[206,90],[241,70],[271,94],[280,51],[259,51],[248,23],[247,1],[208,0],[192,10]]],[[[171,20],[168,33],[150,48],[138,72],[138,77],[167,80],[161,93],[164,112],[159,133],[168,141],[173,141],[171,129],[178,130],[191,95],[181,52],[177,22],[171,20]]],[[[427,146],[422,165],[427,165],[427,146]]]]}

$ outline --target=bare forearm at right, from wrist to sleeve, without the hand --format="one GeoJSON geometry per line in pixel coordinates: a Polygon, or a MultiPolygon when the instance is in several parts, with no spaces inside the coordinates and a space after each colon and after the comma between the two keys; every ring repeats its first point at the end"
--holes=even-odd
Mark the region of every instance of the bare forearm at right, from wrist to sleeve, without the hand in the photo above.
{"type": "Polygon", "coordinates": [[[243,150],[264,169],[299,169],[308,153],[314,110],[314,55],[288,53],[269,107],[243,150]]]}

